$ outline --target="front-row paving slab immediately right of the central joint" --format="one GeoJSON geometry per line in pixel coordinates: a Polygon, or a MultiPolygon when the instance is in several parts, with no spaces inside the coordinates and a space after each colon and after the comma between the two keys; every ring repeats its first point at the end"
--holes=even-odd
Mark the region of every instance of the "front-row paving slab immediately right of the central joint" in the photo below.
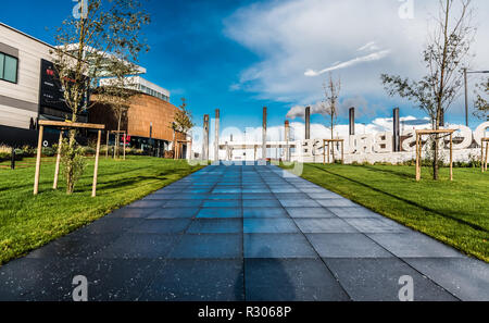
{"type": "Polygon", "coordinates": [[[350,299],[318,259],[247,259],[244,269],[248,301],[350,299]]]}

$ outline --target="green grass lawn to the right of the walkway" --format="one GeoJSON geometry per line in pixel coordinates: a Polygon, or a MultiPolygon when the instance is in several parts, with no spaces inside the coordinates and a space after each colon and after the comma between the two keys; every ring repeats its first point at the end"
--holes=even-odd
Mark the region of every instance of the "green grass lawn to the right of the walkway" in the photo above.
{"type": "Polygon", "coordinates": [[[411,166],[305,164],[302,177],[489,262],[489,173],[455,169],[454,181],[411,166]]]}

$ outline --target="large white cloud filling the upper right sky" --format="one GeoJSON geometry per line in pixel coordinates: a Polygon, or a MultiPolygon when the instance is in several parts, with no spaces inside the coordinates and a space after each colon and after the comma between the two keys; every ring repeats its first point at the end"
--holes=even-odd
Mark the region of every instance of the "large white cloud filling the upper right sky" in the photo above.
{"type": "MultiPolygon", "coordinates": [[[[485,14],[489,1],[473,2],[478,8],[479,25],[473,46],[477,53],[474,67],[487,69],[489,20],[485,14]]],[[[415,1],[414,18],[402,20],[402,3],[272,0],[238,10],[225,21],[224,33],[260,59],[242,71],[240,89],[261,99],[311,104],[322,99],[323,78],[306,75],[335,71],[342,80],[343,98],[386,98],[381,73],[423,75],[421,52],[427,39],[428,17],[437,14],[438,1],[415,1]]]]}

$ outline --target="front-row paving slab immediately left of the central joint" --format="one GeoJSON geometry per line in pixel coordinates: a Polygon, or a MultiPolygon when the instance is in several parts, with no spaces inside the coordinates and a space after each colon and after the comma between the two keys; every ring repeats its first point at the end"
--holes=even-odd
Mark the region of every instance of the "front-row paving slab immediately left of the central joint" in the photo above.
{"type": "Polygon", "coordinates": [[[241,260],[166,260],[142,301],[242,301],[241,260]]]}

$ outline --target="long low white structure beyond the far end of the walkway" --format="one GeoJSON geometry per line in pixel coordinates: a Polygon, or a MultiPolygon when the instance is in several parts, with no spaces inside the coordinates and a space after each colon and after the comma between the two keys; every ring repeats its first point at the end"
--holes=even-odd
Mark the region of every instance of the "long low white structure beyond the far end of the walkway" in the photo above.
{"type": "MultiPolygon", "coordinates": [[[[448,126],[447,128],[454,128],[456,133],[453,141],[453,160],[454,162],[467,162],[474,159],[480,159],[481,138],[488,137],[489,122],[480,124],[475,132],[471,128],[456,125],[448,126]]],[[[259,133],[259,128],[255,131],[259,133]]],[[[400,149],[401,151],[393,151],[393,133],[365,133],[358,135],[338,136],[339,139],[344,139],[344,163],[402,163],[415,159],[415,136],[416,129],[404,129],[401,132],[400,149]]],[[[222,136],[224,137],[224,136],[222,136]]],[[[244,136],[246,137],[246,136],[244,136]]],[[[304,163],[323,163],[324,148],[323,139],[314,138],[304,140],[267,140],[266,141],[266,158],[272,160],[281,159],[287,161],[290,156],[292,162],[304,163]]],[[[449,138],[444,138],[443,147],[447,149],[442,153],[446,162],[449,161],[449,138]]],[[[426,144],[425,144],[426,145],[426,144]]],[[[222,161],[256,161],[264,158],[262,153],[263,144],[261,140],[250,136],[247,138],[239,138],[237,140],[222,140],[218,145],[218,160],[222,161]]],[[[425,149],[423,153],[425,154],[425,149]]],[[[335,146],[335,156],[337,159],[341,156],[341,147],[335,146]]]]}

